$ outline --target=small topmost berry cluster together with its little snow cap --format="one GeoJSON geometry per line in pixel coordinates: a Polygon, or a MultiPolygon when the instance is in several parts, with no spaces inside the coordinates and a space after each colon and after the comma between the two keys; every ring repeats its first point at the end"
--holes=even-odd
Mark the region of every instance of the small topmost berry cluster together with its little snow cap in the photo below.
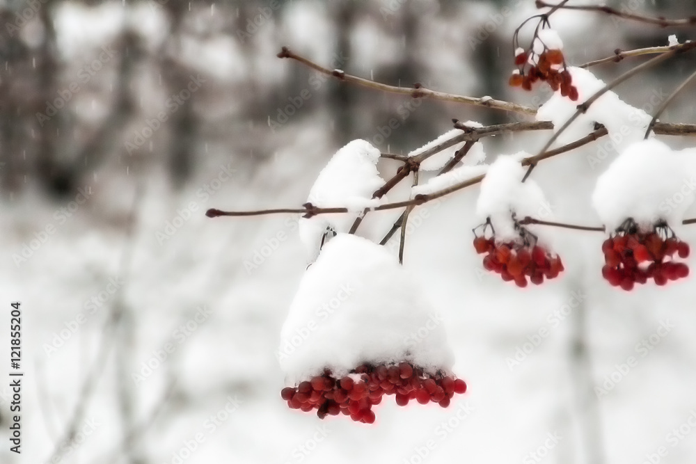
{"type": "Polygon", "coordinates": [[[539,35],[543,37],[535,38],[531,49],[518,47],[515,50],[518,69],[510,76],[510,86],[532,90],[533,83],[544,81],[554,92],[560,90],[563,97],[578,101],[578,88],[573,85],[573,78],[566,69],[560,38],[551,29],[542,29],[539,35]]]}

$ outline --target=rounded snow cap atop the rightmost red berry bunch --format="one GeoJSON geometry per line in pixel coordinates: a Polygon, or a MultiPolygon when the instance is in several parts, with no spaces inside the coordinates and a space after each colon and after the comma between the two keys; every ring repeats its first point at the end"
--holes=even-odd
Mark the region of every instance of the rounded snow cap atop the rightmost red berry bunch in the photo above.
{"type": "Polygon", "coordinates": [[[627,218],[677,229],[695,199],[694,150],[674,152],[654,138],[630,145],[597,179],[592,204],[611,232],[627,218]]]}

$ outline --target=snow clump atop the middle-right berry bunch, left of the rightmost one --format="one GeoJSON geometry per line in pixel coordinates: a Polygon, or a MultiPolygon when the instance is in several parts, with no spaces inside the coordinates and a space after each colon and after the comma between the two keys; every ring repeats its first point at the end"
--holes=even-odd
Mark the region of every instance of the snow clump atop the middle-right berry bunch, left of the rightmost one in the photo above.
{"type": "MultiPolygon", "coordinates": [[[[526,216],[539,219],[539,211],[548,213],[548,202],[539,185],[532,179],[522,182],[527,168],[520,161],[527,156],[524,152],[500,155],[489,166],[486,177],[481,182],[476,213],[482,220],[491,219],[496,239],[501,241],[519,238],[512,220],[513,213],[517,220],[526,216]]],[[[542,243],[546,241],[545,237],[539,239],[542,243]]]]}

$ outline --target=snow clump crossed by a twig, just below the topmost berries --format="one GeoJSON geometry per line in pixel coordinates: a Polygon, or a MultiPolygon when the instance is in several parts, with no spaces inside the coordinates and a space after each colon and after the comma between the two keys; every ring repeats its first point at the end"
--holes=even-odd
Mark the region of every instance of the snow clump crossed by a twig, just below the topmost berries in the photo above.
{"type": "MultiPolygon", "coordinates": [[[[537,111],[538,121],[553,122],[554,130],[560,129],[577,111],[578,104],[586,102],[606,84],[597,79],[592,72],[580,67],[568,67],[573,83],[578,88],[578,102],[555,92],[548,102],[537,111]]],[[[558,138],[558,143],[570,143],[594,131],[594,123],[599,122],[609,131],[609,138],[617,151],[642,140],[652,117],[642,109],[623,102],[611,90],[590,105],[558,138]]]]}

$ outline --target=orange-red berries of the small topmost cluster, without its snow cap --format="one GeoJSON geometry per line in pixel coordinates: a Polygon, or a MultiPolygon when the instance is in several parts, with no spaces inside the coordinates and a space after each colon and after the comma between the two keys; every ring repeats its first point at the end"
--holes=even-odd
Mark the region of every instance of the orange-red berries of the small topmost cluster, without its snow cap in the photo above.
{"type": "Polygon", "coordinates": [[[510,77],[509,84],[513,87],[521,87],[524,90],[532,90],[532,84],[536,81],[545,81],[553,89],[560,90],[561,95],[569,97],[574,102],[578,101],[578,88],[573,85],[573,77],[564,65],[563,52],[560,50],[545,50],[540,55],[532,51],[519,49],[515,56],[515,65],[519,70],[515,70],[510,77]],[[537,63],[529,63],[529,58],[537,63]]]}

